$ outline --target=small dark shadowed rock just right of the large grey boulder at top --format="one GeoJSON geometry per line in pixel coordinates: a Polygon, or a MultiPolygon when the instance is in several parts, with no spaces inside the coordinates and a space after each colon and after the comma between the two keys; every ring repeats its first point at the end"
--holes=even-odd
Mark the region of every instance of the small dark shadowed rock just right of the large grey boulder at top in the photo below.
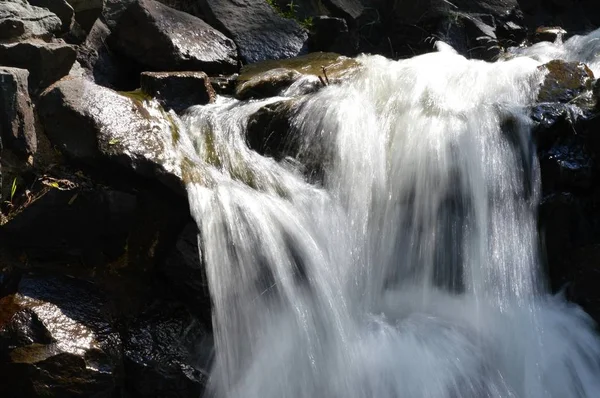
{"type": "Polygon", "coordinates": [[[309,48],[311,52],[331,51],[355,55],[358,40],[350,34],[344,19],[320,15],[312,18],[309,48]]]}

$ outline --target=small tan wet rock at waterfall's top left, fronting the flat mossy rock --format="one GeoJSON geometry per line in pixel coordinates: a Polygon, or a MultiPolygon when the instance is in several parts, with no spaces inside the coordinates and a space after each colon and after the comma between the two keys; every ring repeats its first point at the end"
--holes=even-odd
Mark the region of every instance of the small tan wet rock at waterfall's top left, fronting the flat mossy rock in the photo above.
{"type": "Polygon", "coordinates": [[[270,69],[239,84],[235,97],[239,100],[275,97],[301,77],[294,69],[270,69]]]}

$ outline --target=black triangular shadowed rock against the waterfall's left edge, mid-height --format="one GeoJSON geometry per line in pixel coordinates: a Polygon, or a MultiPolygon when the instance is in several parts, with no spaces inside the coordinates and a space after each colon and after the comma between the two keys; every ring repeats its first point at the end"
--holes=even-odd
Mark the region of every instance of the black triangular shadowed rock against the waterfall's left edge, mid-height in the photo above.
{"type": "Polygon", "coordinates": [[[210,324],[208,281],[200,258],[198,227],[194,221],[187,223],[160,270],[178,298],[189,303],[196,310],[194,313],[210,324]]]}

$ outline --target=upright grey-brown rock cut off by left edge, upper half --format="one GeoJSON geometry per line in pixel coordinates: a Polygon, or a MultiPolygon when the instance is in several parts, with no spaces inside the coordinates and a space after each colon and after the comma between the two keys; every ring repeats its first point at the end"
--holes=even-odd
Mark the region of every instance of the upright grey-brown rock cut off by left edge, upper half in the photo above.
{"type": "Polygon", "coordinates": [[[35,120],[24,69],[0,67],[0,149],[36,152],[35,120]]]}

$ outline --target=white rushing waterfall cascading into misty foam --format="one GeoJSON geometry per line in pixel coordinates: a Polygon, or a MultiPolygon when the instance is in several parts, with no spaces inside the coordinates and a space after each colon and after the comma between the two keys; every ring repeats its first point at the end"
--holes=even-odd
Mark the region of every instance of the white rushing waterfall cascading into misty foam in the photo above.
{"type": "Polygon", "coordinates": [[[600,394],[594,325],[540,270],[526,114],[539,62],[440,47],[362,56],[351,81],[296,99],[301,161],[246,145],[249,116],[281,98],[188,111],[214,305],[207,396],[600,394]]]}

